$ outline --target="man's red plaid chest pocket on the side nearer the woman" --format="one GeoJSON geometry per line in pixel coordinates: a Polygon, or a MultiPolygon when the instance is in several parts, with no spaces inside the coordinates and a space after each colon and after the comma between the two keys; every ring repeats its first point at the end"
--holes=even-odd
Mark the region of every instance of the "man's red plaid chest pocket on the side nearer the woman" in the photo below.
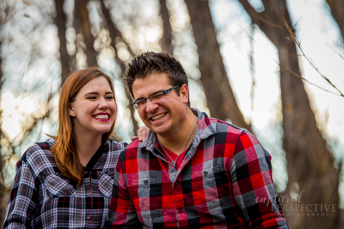
{"type": "Polygon", "coordinates": [[[162,214],[161,177],[139,179],[132,184],[132,200],[139,218],[159,217],[162,214]]]}

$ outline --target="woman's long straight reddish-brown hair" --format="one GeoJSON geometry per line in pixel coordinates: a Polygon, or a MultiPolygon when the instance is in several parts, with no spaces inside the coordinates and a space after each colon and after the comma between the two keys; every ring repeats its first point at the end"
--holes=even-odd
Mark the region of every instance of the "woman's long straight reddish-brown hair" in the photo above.
{"type": "MultiPolygon", "coordinates": [[[[84,87],[89,81],[97,78],[104,77],[111,87],[111,91],[114,92],[114,85],[112,79],[101,72],[97,67],[90,67],[82,70],[72,72],[66,79],[62,86],[60,101],[58,103],[58,131],[56,136],[50,136],[56,140],[55,145],[51,149],[55,156],[56,165],[61,173],[78,185],[81,185],[84,180],[84,170],[79,160],[79,156],[76,152],[76,143],[74,137],[74,123],[71,116],[69,116],[69,103],[73,102],[76,95],[82,87],[84,87]]],[[[115,95],[115,93],[114,93],[115,95]]],[[[115,97],[114,97],[115,98],[115,97]]],[[[115,99],[116,101],[116,99],[115,99]]],[[[117,105],[117,102],[116,102],[117,105]]],[[[103,134],[103,142],[109,137],[118,138],[112,133],[115,127],[115,123],[109,132],[103,134]]]]}

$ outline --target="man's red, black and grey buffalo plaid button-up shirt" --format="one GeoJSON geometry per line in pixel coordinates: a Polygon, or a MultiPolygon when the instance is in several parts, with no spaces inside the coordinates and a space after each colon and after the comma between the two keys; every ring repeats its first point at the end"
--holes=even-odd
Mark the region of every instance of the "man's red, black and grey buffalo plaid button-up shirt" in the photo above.
{"type": "Polygon", "coordinates": [[[178,171],[152,131],[120,153],[107,226],[288,228],[269,153],[247,130],[193,112],[196,133],[178,171]]]}

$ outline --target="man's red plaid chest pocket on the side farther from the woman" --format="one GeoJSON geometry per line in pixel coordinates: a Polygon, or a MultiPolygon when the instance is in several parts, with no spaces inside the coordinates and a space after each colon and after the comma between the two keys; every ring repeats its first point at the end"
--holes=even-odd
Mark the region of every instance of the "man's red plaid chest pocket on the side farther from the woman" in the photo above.
{"type": "MultiPolygon", "coordinates": [[[[193,173],[191,176],[192,196],[197,211],[207,211],[218,208],[224,204],[224,198],[228,197],[224,188],[227,177],[221,172],[220,167],[208,168],[193,173]]],[[[228,201],[228,200],[227,200],[228,201]]]]}

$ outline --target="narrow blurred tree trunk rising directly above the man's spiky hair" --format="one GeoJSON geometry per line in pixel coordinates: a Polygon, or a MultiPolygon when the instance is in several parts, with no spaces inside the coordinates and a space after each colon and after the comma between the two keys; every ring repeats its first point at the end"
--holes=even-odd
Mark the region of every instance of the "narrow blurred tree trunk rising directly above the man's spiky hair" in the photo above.
{"type": "Polygon", "coordinates": [[[161,18],[163,22],[163,33],[160,40],[161,50],[162,52],[168,52],[169,54],[173,54],[173,46],[172,46],[172,35],[171,35],[171,24],[170,24],[170,16],[168,13],[168,9],[166,6],[166,0],[160,0],[160,7],[161,7],[161,18]]]}

